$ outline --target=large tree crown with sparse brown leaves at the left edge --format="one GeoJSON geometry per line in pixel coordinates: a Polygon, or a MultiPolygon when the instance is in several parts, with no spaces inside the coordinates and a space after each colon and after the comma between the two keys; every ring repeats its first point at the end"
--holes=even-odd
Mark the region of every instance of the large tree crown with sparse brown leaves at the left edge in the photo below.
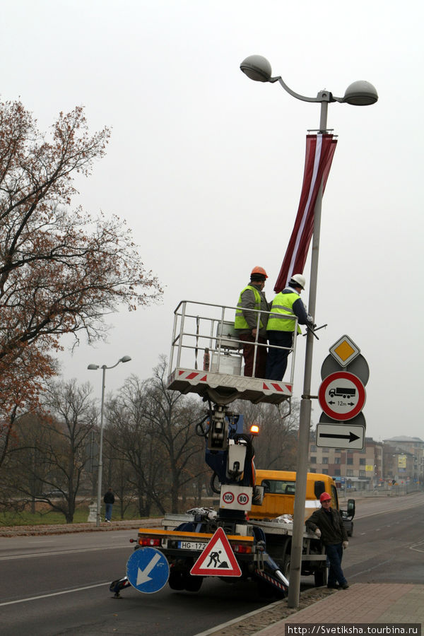
{"type": "Polygon", "coordinates": [[[56,371],[61,335],[102,338],[106,314],[161,293],[117,216],[69,209],[73,179],[90,174],[109,136],[88,134],[81,107],[60,113],[47,136],[20,102],[0,102],[0,426],[9,431],[9,415],[37,406],[56,371]]]}

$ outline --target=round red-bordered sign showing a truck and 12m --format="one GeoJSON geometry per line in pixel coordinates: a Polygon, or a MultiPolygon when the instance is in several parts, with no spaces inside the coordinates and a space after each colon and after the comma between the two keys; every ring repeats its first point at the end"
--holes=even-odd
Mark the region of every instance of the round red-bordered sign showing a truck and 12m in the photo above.
{"type": "Polygon", "coordinates": [[[334,420],[351,420],[363,410],[365,387],[360,379],[348,371],[328,375],[318,390],[319,404],[334,420]]]}

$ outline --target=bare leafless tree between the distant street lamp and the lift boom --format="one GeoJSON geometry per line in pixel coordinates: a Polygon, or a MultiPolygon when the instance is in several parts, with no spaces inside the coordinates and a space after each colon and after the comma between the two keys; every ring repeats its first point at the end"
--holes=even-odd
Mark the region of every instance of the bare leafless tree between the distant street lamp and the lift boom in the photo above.
{"type": "Polygon", "coordinates": [[[119,397],[107,404],[107,452],[131,465],[129,479],[142,516],[150,514],[152,505],[164,514],[168,502],[177,512],[185,486],[205,471],[204,462],[196,462],[204,444],[194,430],[201,404],[167,390],[166,366],[163,357],[150,379],[129,378],[119,397]]]}

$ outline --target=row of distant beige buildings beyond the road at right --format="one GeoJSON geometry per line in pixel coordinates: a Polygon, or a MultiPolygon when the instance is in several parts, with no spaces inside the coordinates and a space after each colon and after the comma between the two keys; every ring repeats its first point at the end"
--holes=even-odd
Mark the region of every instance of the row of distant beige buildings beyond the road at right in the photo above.
{"type": "Polygon", "coordinates": [[[383,442],[365,437],[363,450],[317,447],[315,441],[312,432],[309,471],[330,475],[346,490],[424,481],[424,441],[419,437],[393,437],[383,442]]]}

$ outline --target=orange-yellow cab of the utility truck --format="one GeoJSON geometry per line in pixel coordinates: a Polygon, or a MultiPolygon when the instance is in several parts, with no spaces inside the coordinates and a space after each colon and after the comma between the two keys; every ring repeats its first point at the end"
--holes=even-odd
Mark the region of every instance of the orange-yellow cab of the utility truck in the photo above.
{"type": "MultiPolygon", "coordinates": [[[[250,519],[274,519],[281,514],[293,514],[295,505],[296,473],[294,471],[256,471],[256,485],[264,488],[261,505],[253,505],[250,519]]],[[[307,473],[305,520],[320,507],[319,495],[329,493],[331,507],[339,510],[334,479],[322,473],[307,473]]]]}

